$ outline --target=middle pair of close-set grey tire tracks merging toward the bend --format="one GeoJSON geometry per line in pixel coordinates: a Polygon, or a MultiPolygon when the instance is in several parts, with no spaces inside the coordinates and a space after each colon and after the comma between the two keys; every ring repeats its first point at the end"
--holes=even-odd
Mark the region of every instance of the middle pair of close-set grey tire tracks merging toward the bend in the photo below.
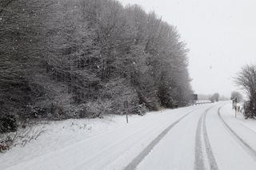
{"type": "MultiPolygon", "coordinates": [[[[213,106],[214,107],[214,106],[213,106]]],[[[214,154],[210,147],[210,140],[206,130],[206,114],[210,109],[206,109],[198,121],[197,132],[195,136],[195,148],[194,148],[194,170],[206,169],[204,152],[206,152],[209,168],[217,170],[218,165],[214,158],[214,154]],[[205,148],[205,150],[203,149],[205,148]]]]}

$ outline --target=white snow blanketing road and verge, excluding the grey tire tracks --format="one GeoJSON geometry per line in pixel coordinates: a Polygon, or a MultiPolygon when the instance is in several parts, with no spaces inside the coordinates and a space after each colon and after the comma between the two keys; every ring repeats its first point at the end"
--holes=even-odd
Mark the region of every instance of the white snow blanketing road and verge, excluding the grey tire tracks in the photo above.
{"type": "Polygon", "coordinates": [[[46,132],[38,140],[0,154],[0,169],[123,169],[161,132],[191,111],[194,112],[170,128],[138,164],[138,169],[193,169],[200,165],[195,159],[200,158],[195,153],[198,141],[204,169],[210,169],[210,164],[214,163],[212,157],[218,169],[256,168],[253,152],[256,150],[256,121],[244,120],[242,115],[235,118],[230,102],[218,102],[148,113],[144,117],[130,116],[129,124],[124,116],[50,122],[43,125],[46,132]],[[220,107],[224,121],[251,149],[223,124],[218,117],[220,107]],[[205,123],[198,125],[204,114],[205,123]],[[197,132],[201,135],[196,135],[197,132]],[[211,152],[204,142],[206,138],[211,152]]]}

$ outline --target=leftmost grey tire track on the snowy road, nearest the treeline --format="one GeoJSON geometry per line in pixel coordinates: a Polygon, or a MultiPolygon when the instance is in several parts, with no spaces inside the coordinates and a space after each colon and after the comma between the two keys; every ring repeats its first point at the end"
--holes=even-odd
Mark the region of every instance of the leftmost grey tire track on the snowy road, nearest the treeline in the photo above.
{"type": "MultiPolygon", "coordinates": [[[[200,108],[198,108],[200,109],[200,108]]],[[[182,121],[182,119],[184,119],[185,117],[187,117],[190,113],[193,113],[194,111],[198,110],[198,109],[194,109],[192,111],[190,111],[189,113],[186,113],[186,115],[182,116],[181,118],[179,118],[177,121],[174,121],[173,124],[171,124],[169,127],[167,127],[165,130],[163,130],[156,138],[154,138],[154,140],[152,140],[150,142],[150,144],[148,144],[146,146],[146,148],[144,148],[142,150],[142,152],[140,154],[138,154],[138,156],[136,156],[134,158],[134,160],[132,160],[130,162],[130,164],[128,164],[126,166],[126,168],[124,168],[124,170],[134,170],[136,169],[136,167],[138,166],[138,164],[150,153],[150,151],[154,148],[155,145],[158,144],[158,142],[160,140],[162,140],[162,138],[164,136],[166,136],[166,133],[170,131],[171,128],[173,128],[175,125],[177,125],[180,121],[182,121]]]]}

